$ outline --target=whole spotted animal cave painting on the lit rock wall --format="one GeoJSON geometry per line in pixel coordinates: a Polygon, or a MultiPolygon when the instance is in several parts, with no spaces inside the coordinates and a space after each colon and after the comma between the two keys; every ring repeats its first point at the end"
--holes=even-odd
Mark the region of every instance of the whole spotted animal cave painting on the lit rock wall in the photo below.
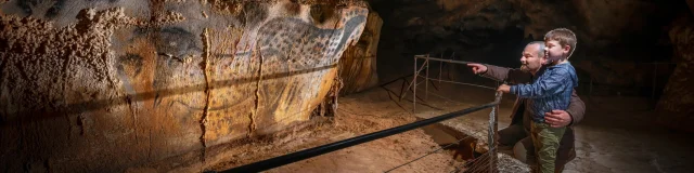
{"type": "Polygon", "coordinates": [[[319,28],[297,17],[274,17],[265,18],[267,22],[260,22],[257,29],[247,29],[257,30],[255,34],[246,31],[241,36],[224,35],[229,29],[213,30],[207,36],[181,28],[136,29],[127,42],[136,44],[129,48],[138,49],[129,49],[120,56],[120,66],[131,67],[120,67],[119,74],[132,74],[120,76],[124,89],[131,96],[155,91],[146,96],[154,97],[152,101],[134,104],[140,107],[133,109],[152,105],[151,109],[166,111],[181,124],[205,117],[206,139],[223,142],[250,135],[255,130],[271,132],[282,124],[307,119],[330,89],[337,61],[347,44],[359,38],[368,11],[345,9],[342,14],[337,25],[333,24],[337,28],[319,28]],[[202,57],[203,37],[210,41],[207,62],[202,57]],[[230,40],[240,41],[235,50],[229,50],[234,45],[228,43],[230,40]],[[230,54],[232,51],[235,53],[230,54]],[[142,57],[154,61],[132,61],[142,57]],[[211,65],[209,83],[200,67],[205,63],[211,65]],[[140,66],[150,66],[146,68],[154,71],[140,76],[140,66]],[[175,90],[168,90],[171,88],[175,90]],[[205,88],[213,89],[209,101],[202,92],[205,88]]]}

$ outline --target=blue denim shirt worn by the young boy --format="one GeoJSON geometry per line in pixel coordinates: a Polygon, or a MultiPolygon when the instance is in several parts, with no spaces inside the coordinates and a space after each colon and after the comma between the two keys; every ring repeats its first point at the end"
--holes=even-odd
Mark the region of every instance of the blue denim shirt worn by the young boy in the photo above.
{"type": "Polygon", "coordinates": [[[568,62],[547,67],[537,75],[539,78],[531,84],[512,85],[511,93],[528,98],[527,108],[532,114],[532,121],[544,122],[545,112],[568,108],[571,92],[578,86],[578,77],[568,62]]]}

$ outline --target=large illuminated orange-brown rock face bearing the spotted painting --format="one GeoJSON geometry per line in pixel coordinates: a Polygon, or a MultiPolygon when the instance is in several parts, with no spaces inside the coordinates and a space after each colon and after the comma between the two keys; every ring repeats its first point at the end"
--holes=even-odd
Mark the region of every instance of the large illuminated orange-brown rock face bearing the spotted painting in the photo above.
{"type": "Polygon", "coordinates": [[[307,120],[369,13],[316,3],[0,2],[0,170],[204,159],[307,120]]]}

